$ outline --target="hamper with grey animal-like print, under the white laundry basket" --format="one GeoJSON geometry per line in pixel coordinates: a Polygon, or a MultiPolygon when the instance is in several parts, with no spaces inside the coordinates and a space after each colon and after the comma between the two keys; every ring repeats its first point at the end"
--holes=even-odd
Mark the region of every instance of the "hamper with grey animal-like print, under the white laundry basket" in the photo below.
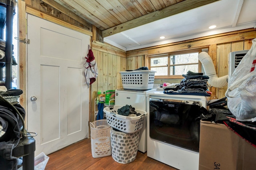
{"type": "Polygon", "coordinates": [[[140,130],[135,133],[124,133],[111,127],[112,158],[121,164],[128,164],[136,159],[140,130]]]}

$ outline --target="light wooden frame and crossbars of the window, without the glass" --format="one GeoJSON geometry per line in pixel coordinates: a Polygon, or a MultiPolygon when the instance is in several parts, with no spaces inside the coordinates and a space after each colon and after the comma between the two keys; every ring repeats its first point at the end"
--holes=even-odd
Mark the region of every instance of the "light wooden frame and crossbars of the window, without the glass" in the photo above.
{"type": "MultiPolygon", "coordinates": [[[[187,53],[196,53],[198,54],[202,52],[202,49],[191,49],[191,50],[185,50],[185,51],[174,51],[174,52],[169,52],[169,53],[162,53],[162,54],[154,54],[154,55],[147,55],[148,58],[148,68],[151,70],[151,59],[152,58],[159,58],[159,57],[168,57],[168,75],[155,75],[155,79],[183,79],[184,77],[182,75],[170,75],[170,67],[171,66],[176,66],[176,65],[192,65],[192,64],[198,64],[198,73],[202,72],[202,63],[198,59],[198,63],[184,63],[184,64],[176,64],[176,65],[170,65],[170,56],[173,55],[182,55],[182,54],[187,54],[187,53]]],[[[161,66],[153,66],[154,68],[156,67],[164,67],[164,65],[161,66]]]]}

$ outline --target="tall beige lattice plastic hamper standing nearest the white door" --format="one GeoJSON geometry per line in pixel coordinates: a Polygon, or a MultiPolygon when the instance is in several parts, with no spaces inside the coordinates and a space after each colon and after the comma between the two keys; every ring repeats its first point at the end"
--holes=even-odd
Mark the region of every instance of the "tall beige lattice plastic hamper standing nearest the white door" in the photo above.
{"type": "Polygon", "coordinates": [[[106,119],[90,122],[92,157],[111,155],[110,126],[106,119]]]}

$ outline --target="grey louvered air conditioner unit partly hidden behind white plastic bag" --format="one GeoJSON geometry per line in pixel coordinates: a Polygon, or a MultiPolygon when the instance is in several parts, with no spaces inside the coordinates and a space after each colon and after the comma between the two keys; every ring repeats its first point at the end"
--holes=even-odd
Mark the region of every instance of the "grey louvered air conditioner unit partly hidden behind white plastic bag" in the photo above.
{"type": "Polygon", "coordinates": [[[231,75],[233,74],[234,70],[236,69],[236,67],[238,66],[238,64],[240,63],[240,61],[242,60],[242,58],[244,57],[244,55],[246,55],[246,53],[249,50],[241,50],[241,51],[234,51],[229,53],[229,58],[228,58],[228,64],[229,64],[229,68],[228,68],[228,77],[231,77],[231,75]]]}

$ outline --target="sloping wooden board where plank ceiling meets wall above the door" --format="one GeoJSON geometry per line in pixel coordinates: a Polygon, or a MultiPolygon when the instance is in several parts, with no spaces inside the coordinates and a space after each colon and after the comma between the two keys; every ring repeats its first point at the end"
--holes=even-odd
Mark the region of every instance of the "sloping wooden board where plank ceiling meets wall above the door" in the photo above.
{"type": "Polygon", "coordinates": [[[70,18],[73,18],[74,20],[80,22],[81,24],[83,24],[84,26],[88,27],[88,28],[92,28],[92,24],[86,22],[84,19],[82,19],[81,17],[79,17],[77,14],[75,14],[74,12],[71,12],[70,10],[68,10],[67,8],[65,8],[64,6],[62,6],[61,4],[59,4],[58,2],[54,1],[54,0],[42,0],[43,2],[45,2],[46,4],[49,4],[50,6],[52,6],[53,8],[55,8],[56,10],[59,10],[60,12],[62,12],[63,14],[69,16],[70,18]]]}

